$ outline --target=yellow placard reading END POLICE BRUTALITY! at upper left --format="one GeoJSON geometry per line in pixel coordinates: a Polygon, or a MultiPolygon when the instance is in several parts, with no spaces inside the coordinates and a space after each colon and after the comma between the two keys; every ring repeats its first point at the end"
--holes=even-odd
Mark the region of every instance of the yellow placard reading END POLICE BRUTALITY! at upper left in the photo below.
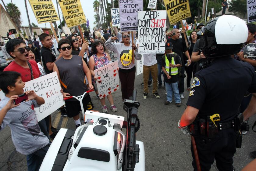
{"type": "Polygon", "coordinates": [[[29,0],[38,24],[59,20],[52,0],[29,0]]]}

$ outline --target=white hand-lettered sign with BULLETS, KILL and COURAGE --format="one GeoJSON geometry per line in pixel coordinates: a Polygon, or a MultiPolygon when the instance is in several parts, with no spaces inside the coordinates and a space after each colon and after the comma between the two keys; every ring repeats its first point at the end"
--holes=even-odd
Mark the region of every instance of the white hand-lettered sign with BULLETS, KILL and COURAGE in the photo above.
{"type": "MultiPolygon", "coordinates": [[[[65,104],[60,89],[61,87],[56,72],[26,82],[24,91],[34,90],[34,92],[38,96],[43,97],[45,101],[40,107],[35,108],[38,121],[41,121],[65,104]]],[[[0,99],[3,98],[4,94],[0,93],[0,99]]]]}

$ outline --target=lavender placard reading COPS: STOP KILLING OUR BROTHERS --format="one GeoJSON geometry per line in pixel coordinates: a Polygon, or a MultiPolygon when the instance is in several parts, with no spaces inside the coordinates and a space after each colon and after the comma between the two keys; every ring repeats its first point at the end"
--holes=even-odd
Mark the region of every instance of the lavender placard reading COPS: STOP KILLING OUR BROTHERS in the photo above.
{"type": "Polygon", "coordinates": [[[138,11],[143,11],[143,0],[119,0],[121,31],[138,30],[138,11]]]}

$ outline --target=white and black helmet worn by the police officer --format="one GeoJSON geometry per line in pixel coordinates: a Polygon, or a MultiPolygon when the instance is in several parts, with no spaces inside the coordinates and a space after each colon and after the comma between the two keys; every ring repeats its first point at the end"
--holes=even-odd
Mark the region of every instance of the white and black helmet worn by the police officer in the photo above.
{"type": "Polygon", "coordinates": [[[197,33],[204,37],[203,54],[216,58],[236,54],[247,40],[246,22],[236,16],[213,18],[197,33]]]}

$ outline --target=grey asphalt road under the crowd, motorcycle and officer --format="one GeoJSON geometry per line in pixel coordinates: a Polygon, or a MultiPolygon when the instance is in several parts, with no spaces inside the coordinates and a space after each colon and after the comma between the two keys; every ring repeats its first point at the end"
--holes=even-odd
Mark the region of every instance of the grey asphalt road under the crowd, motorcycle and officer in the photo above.
{"type": "MultiPolygon", "coordinates": [[[[145,146],[146,171],[180,171],[193,170],[190,152],[190,136],[183,134],[177,127],[183,111],[186,107],[189,92],[184,92],[185,99],[182,100],[180,108],[175,103],[164,105],[166,100],[165,89],[158,89],[161,98],[156,99],[152,93],[149,93],[148,99],[144,100],[143,86],[140,83],[143,75],[136,77],[134,88],[137,89],[137,100],[140,101],[138,116],[140,118],[140,130],[137,132],[137,140],[143,141],[145,146]]],[[[185,81],[186,85],[186,81],[185,81]]],[[[149,88],[152,91],[153,87],[149,88]]],[[[94,103],[94,110],[101,111],[100,101],[96,99],[95,93],[90,93],[94,103]]],[[[228,96],[228,94],[226,94],[228,96]]],[[[116,113],[109,111],[109,114],[121,115],[126,117],[121,102],[121,90],[113,94],[114,102],[118,108],[116,113]]],[[[106,100],[107,101],[107,100],[106,100]]],[[[108,108],[110,104],[106,102],[108,108]]],[[[225,105],[225,104],[223,104],[225,105]]],[[[52,114],[52,123],[58,128],[75,129],[73,119],[60,118],[60,114],[52,114]]],[[[234,164],[236,171],[241,170],[252,161],[251,151],[256,150],[255,136],[251,130],[253,122],[256,120],[254,115],[250,119],[250,131],[243,136],[242,148],[237,149],[234,155],[234,164]]],[[[9,127],[0,132],[0,170],[1,171],[24,171],[27,170],[26,156],[16,152],[11,140],[9,127]]],[[[211,171],[215,171],[216,164],[212,165],[211,171]]]]}

